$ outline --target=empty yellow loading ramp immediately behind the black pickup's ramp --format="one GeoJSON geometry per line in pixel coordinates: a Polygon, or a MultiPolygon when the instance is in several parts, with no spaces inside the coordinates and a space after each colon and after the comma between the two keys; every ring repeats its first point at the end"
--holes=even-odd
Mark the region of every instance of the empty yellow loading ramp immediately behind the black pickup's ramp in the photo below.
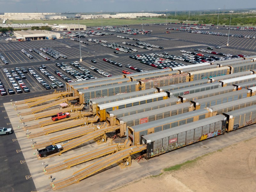
{"type": "Polygon", "coordinates": [[[41,143],[36,143],[36,144],[34,144],[33,149],[36,149],[36,148],[39,149],[39,148],[42,148],[42,147],[46,147],[48,145],[55,145],[56,143],[60,143],[60,142],[63,142],[63,141],[75,139],[75,138],[81,137],[85,134],[91,133],[94,130],[96,130],[96,125],[89,124],[89,125],[84,126],[80,130],[76,129],[75,132],[71,132],[71,133],[67,133],[67,134],[64,134],[64,135],[57,136],[57,137],[53,137],[53,138],[51,138],[47,141],[41,142],[41,143]]]}

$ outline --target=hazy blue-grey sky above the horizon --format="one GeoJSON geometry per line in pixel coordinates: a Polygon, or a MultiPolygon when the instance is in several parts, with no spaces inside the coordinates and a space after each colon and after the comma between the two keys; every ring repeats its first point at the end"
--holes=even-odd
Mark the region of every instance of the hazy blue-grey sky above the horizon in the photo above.
{"type": "MultiPolygon", "coordinates": [[[[254,3],[253,3],[254,2],[254,3]]],[[[0,12],[148,12],[241,9],[255,0],[0,0],[0,12]],[[37,10],[36,10],[37,9],[37,10]]]]}

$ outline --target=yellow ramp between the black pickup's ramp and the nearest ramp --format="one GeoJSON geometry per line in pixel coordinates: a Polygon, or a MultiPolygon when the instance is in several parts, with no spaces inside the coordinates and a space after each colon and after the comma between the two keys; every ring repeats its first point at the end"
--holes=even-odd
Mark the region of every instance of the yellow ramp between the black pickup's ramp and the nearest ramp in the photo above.
{"type": "Polygon", "coordinates": [[[69,169],[72,166],[75,166],[75,165],[78,165],[81,163],[85,163],[87,161],[91,161],[93,159],[97,159],[97,158],[105,156],[105,155],[116,153],[124,148],[125,148],[124,143],[116,143],[113,145],[109,145],[107,147],[102,147],[102,148],[90,151],[88,153],[84,153],[82,155],[69,158],[69,159],[63,161],[62,163],[52,165],[51,167],[47,167],[45,169],[44,174],[51,174],[51,173],[58,172],[63,169],[69,169]]]}

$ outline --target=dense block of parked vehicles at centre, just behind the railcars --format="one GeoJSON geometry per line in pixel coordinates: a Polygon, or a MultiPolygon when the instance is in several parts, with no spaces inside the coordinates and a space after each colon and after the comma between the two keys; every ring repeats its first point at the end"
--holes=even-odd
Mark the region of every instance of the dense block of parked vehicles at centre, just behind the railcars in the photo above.
{"type": "MultiPolygon", "coordinates": [[[[167,52],[164,52],[165,54],[167,52]]],[[[141,54],[141,55],[131,55],[129,56],[131,59],[134,60],[139,60],[140,63],[149,65],[155,68],[159,69],[164,69],[164,68],[172,68],[172,67],[180,67],[180,66],[185,66],[183,63],[177,63],[176,61],[171,61],[169,59],[164,59],[161,58],[164,56],[163,54],[160,53],[150,53],[150,54],[141,54]]],[[[169,57],[168,55],[165,55],[167,58],[169,57]]],[[[172,58],[174,55],[171,55],[172,58]]],[[[125,66],[127,68],[130,68],[129,66],[125,66]]]]}

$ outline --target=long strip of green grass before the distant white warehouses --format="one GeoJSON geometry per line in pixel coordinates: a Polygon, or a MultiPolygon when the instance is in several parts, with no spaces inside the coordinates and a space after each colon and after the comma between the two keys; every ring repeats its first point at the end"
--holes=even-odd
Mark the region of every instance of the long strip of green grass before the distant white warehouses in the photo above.
{"type": "MultiPolygon", "coordinates": [[[[177,20],[170,20],[167,19],[168,22],[180,22],[177,20]]],[[[19,23],[48,23],[49,25],[53,24],[78,24],[78,20],[7,20],[7,24],[19,24],[19,23]]],[[[101,26],[101,19],[95,19],[95,20],[79,20],[79,23],[81,25],[86,26],[101,26]]],[[[153,24],[153,23],[166,23],[166,19],[163,18],[143,18],[143,23],[153,24]]],[[[122,26],[122,25],[136,25],[136,24],[142,24],[142,20],[140,18],[138,19],[102,19],[102,25],[103,26],[122,26]]]]}

